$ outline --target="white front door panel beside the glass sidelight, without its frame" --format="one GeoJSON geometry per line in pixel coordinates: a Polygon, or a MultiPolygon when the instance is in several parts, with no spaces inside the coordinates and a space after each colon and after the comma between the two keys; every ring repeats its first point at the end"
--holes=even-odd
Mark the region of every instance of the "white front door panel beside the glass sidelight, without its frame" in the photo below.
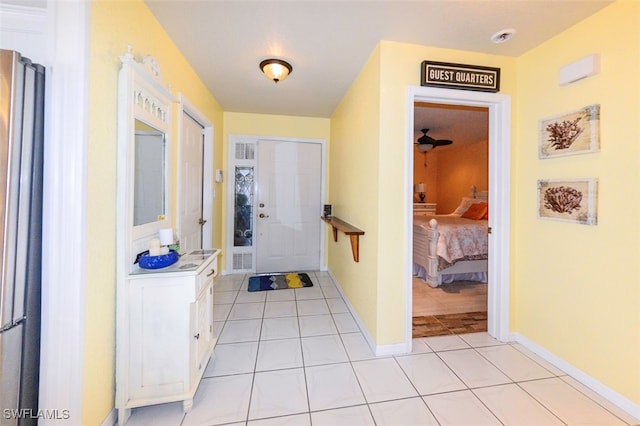
{"type": "Polygon", "coordinates": [[[322,146],[258,141],[256,271],[320,267],[322,146]]]}

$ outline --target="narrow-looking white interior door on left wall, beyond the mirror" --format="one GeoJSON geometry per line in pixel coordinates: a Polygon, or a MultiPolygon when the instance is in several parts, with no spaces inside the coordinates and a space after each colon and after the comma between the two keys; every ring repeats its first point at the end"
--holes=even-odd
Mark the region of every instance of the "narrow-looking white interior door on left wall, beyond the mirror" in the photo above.
{"type": "Polygon", "coordinates": [[[203,127],[189,114],[182,117],[180,164],[180,251],[202,248],[203,127]]]}

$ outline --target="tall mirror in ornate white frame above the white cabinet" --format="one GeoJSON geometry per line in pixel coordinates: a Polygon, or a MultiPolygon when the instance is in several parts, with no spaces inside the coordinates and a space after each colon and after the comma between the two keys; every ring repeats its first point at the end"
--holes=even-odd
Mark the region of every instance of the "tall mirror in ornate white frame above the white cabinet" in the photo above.
{"type": "Polygon", "coordinates": [[[158,231],[171,228],[171,112],[176,102],[150,56],[120,57],[118,80],[118,253],[123,269],[158,231]]]}

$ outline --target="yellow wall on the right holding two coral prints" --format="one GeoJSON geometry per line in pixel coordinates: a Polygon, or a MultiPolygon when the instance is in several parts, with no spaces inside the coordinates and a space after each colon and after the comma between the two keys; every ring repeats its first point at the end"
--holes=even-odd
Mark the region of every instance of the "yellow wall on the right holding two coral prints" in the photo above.
{"type": "Polygon", "coordinates": [[[518,58],[513,329],[640,403],[640,3],[618,1],[518,58]],[[558,69],[600,54],[599,75],[558,69]],[[538,120],[601,106],[601,152],[539,160],[538,120]],[[536,218],[540,178],[599,179],[597,226],[536,218]]]}

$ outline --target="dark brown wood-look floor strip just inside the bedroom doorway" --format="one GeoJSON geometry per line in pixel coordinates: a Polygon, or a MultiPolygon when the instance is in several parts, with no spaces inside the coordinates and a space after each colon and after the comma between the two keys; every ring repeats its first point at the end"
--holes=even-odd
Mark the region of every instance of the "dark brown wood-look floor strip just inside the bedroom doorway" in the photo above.
{"type": "Polygon", "coordinates": [[[413,317],[413,338],[487,331],[487,312],[413,317]]]}

